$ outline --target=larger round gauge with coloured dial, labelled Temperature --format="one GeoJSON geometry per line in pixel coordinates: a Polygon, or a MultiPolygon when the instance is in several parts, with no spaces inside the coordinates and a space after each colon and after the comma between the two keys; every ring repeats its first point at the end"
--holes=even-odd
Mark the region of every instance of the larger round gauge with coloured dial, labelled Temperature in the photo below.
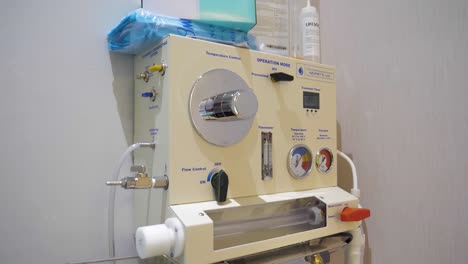
{"type": "Polygon", "coordinates": [[[307,177],[312,170],[312,152],[305,145],[295,145],[289,151],[288,170],[297,179],[307,177]]]}

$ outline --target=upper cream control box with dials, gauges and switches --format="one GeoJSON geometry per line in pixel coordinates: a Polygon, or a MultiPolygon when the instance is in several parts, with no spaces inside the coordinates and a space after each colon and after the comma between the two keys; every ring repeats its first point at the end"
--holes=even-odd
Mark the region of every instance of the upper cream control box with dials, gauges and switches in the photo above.
{"type": "Polygon", "coordinates": [[[336,186],[333,67],[169,36],[135,74],[134,140],[157,142],[135,158],[167,205],[336,186]]]}

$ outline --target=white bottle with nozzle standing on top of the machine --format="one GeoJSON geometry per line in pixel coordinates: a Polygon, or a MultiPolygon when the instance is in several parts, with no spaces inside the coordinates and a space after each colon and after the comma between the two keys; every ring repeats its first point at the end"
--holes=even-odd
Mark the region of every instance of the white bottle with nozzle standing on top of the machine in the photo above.
{"type": "Polygon", "coordinates": [[[302,57],[320,63],[320,22],[317,8],[310,5],[301,9],[302,57]]]}

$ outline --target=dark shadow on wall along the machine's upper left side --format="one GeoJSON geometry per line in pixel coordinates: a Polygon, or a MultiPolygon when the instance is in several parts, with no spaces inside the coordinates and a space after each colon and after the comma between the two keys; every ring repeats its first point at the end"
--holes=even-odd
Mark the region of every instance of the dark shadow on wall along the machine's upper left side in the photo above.
{"type": "Polygon", "coordinates": [[[133,144],[133,55],[109,52],[114,91],[120,123],[127,145],[133,144]]]}

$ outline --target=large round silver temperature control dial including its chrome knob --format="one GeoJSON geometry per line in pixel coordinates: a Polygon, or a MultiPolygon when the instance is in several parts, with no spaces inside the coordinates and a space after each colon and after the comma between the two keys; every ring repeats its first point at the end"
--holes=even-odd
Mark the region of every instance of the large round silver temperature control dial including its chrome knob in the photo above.
{"type": "Polygon", "coordinates": [[[257,96],[232,71],[211,70],[193,84],[189,101],[192,124],[211,144],[239,143],[250,131],[257,110],[257,96]]]}

